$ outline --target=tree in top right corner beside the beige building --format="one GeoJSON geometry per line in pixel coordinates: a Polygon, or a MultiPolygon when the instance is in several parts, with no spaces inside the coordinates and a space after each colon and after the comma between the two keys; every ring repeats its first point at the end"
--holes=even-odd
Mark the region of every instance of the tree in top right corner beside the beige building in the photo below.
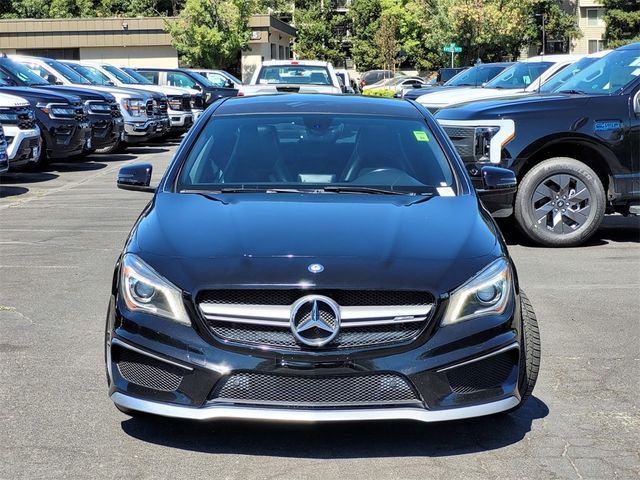
{"type": "Polygon", "coordinates": [[[640,42],[640,5],[638,0],[603,0],[607,9],[604,38],[608,48],[640,42]]]}

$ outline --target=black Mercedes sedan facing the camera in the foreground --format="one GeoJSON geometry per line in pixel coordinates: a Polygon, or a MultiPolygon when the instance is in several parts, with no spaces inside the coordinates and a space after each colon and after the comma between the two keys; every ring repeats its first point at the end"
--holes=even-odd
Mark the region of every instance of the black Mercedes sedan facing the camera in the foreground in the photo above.
{"type": "Polygon", "coordinates": [[[157,187],[113,277],[109,395],[184,419],[463,419],[531,395],[540,343],[485,208],[515,188],[471,185],[410,101],[223,99],[157,187]]]}

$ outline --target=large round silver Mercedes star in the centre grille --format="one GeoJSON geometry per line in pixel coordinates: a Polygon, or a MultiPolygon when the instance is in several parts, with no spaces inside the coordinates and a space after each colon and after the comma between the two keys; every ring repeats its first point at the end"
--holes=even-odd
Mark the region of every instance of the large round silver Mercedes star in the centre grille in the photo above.
{"type": "Polygon", "coordinates": [[[322,347],[340,330],[340,307],[329,297],[307,295],[291,306],[291,332],[300,343],[322,347]]]}

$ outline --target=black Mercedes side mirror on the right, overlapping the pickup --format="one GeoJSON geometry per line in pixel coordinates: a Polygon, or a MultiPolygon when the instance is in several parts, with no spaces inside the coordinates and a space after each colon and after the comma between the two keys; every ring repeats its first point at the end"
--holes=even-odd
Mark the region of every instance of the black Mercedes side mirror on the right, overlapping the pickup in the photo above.
{"type": "Polygon", "coordinates": [[[478,196],[493,217],[508,217],[513,213],[513,202],[518,186],[516,174],[508,168],[486,165],[480,169],[482,189],[478,196]]]}

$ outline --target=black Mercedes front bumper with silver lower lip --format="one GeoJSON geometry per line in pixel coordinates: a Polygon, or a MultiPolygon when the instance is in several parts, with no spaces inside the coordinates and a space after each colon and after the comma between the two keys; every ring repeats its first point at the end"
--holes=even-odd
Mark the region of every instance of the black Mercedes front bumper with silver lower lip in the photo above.
{"type": "MultiPolygon", "coordinates": [[[[114,403],[131,410],[194,420],[436,422],[490,415],[520,402],[517,297],[503,316],[480,318],[472,326],[437,328],[436,315],[419,338],[402,345],[323,355],[225,345],[202,332],[199,320],[193,328],[142,313],[123,314],[116,303],[112,297],[105,339],[109,395],[114,403]],[[328,380],[325,385],[333,385],[331,389],[337,385],[332,384],[335,379],[384,377],[373,387],[368,384],[375,396],[381,389],[398,386],[395,380],[386,380],[392,377],[400,387],[404,382],[413,397],[400,399],[394,390],[385,390],[385,395],[392,393],[384,401],[326,402],[318,399],[326,391],[321,389],[316,390],[318,397],[308,396],[312,400],[289,402],[282,400],[289,394],[274,387],[281,385],[276,382],[267,388],[273,398],[256,400],[252,392],[265,384],[253,380],[243,384],[243,378],[252,376],[294,379],[293,397],[300,384],[309,382],[328,380]],[[478,381],[482,376],[489,378],[487,385],[478,381]],[[227,385],[236,394],[244,388],[248,395],[223,395],[227,385]]],[[[338,390],[341,399],[351,393],[362,396],[355,389],[338,390]]]]}

